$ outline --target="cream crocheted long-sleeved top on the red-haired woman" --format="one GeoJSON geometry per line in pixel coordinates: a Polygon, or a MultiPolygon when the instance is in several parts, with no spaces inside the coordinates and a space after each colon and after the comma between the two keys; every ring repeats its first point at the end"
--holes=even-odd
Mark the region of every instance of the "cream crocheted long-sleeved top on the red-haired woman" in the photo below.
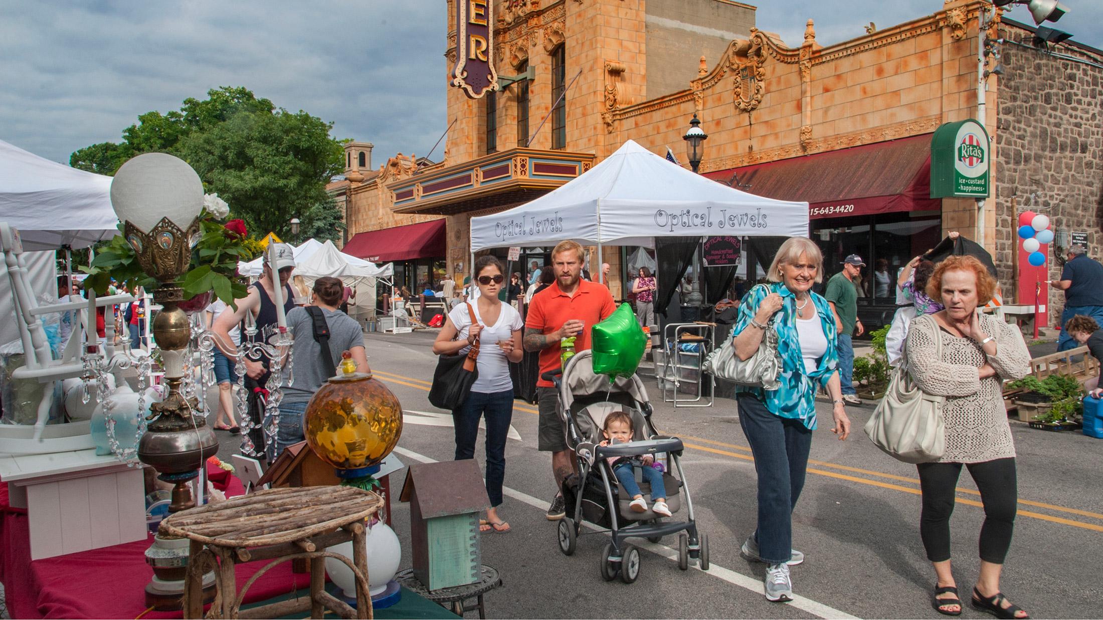
{"type": "Polygon", "coordinates": [[[913,319],[908,332],[912,378],[923,392],[946,397],[942,408],[946,451],[938,462],[977,463],[1015,456],[1002,380],[1026,376],[1030,352],[1014,325],[982,314],[981,328],[996,338],[995,355],[987,355],[973,339],[941,329],[930,314],[913,319]],[[941,359],[934,353],[935,338],[942,339],[941,359]],[[979,378],[985,362],[996,376],[979,378]]]}

